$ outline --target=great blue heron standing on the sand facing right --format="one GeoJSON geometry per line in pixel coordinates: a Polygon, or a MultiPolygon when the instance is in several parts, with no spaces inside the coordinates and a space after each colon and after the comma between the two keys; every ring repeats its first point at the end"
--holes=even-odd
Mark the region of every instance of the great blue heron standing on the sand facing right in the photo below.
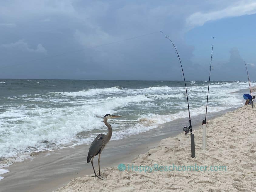
{"type": "MultiPolygon", "coordinates": [[[[92,166],[93,166],[93,158],[96,155],[99,155],[99,158],[100,158],[100,153],[103,151],[104,147],[109,142],[109,140],[112,136],[112,127],[107,122],[107,120],[110,119],[110,118],[116,118],[116,117],[121,117],[121,116],[120,115],[106,114],[103,117],[103,122],[108,127],[108,133],[106,135],[103,134],[103,133],[100,133],[98,136],[96,136],[96,138],[93,140],[93,143],[91,144],[91,146],[89,148],[89,152],[88,152],[88,156],[87,156],[87,163],[91,162],[92,166]]],[[[98,159],[98,165],[99,165],[99,159],[98,159]]],[[[95,175],[93,177],[99,177],[99,176],[101,177],[100,171],[99,171],[99,176],[96,175],[94,167],[93,167],[93,171],[94,171],[94,175],[95,175]]]]}

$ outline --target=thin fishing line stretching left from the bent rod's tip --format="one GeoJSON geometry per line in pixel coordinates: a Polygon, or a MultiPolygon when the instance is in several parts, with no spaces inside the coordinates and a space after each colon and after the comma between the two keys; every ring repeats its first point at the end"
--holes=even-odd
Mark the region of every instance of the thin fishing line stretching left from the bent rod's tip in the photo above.
{"type": "Polygon", "coordinates": [[[92,46],[92,47],[83,48],[83,49],[63,52],[63,53],[60,53],[60,54],[56,54],[56,55],[52,55],[52,56],[48,56],[48,57],[43,57],[43,58],[40,58],[40,59],[32,59],[32,60],[29,60],[29,61],[26,61],[26,62],[20,63],[20,64],[12,64],[12,65],[2,66],[1,68],[3,69],[3,68],[6,68],[6,67],[11,67],[11,66],[15,66],[15,65],[24,65],[24,64],[27,64],[27,63],[32,62],[32,61],[41,61],[41,60],[44,60],[44,59],[49,59],[49,58],[53,58],[53,57],[67,55],[67,54],[70,54],[70,53],[81,52],[81,51],[84,51],[86,49],[93,49],[93,48],[102,47],[102,46],[106,46],[106,45],[111,45],[111,44],[116,44],[116,43],[120,43],[120,42],[130,41],[130,40],[133,40],[133,39],[138,39],[140,37],[145,37],[145,36],[152,35],[152,34],[155,34],[155,33],[159,33],[159,32],[157,31],[157,32],[147,33],[147,34],[144,34],[144,35],[138,35],[138,36],[130,37],[130,38],[123,39],[123,40],[120,40],[120,41],[114,41],[114,42],[110,42],[110,43],[105,43],[105,44],[101,44],[101,45],[96,45],[96,46],[92,46]]]}

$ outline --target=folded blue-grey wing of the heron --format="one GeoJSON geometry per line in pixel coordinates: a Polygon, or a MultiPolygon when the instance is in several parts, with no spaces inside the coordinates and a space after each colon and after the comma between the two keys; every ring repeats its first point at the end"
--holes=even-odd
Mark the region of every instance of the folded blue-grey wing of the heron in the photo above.
{"type": "Polygon", "coordinates": [[[87,156],[87,163],[89,163],[94,156],[96,156],[100,153],[101,147],[103,144],[103,138],[105,136],[106,135],[101,133],[98,136],[96,136],[96,138],[93,140],[93,143],[91,144],[91,146],[89,148],[89,152],[88,152],[88,156],[87,156]]]}

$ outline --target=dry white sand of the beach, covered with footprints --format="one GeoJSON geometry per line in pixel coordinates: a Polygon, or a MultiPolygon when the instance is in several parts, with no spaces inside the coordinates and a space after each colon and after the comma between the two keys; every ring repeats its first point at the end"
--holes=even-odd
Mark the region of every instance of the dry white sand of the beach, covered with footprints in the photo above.
{"type": "MultiPolygon", "coordinates": [[[[126,163],[125,171],[119,171],[117,167],[109,167],[101,170],[105,178],[103,180],[91,177],[93,174],[85,175],[71,180],[67,186],[56,191],[256,191],[255,114],[256,107],[243,106],[209,120],[207,150],[201,149],[202,129],[194,131],[195,158],[190,157],[189,134],[188,136],[180,134],[174,138],[161,140],[157,147],[135,157],[133,162],[126,163]],[[130,170],[127,170],[128,164],[130,170]],[[169,166],[173,169],[173,164],[185,167],[197,164],[199,170],[144,171],[143,166],[154,168],[155,164],[158,164],[158,167],[167,166],[168,169],[169,166]],[[131,170],[132,165],[133,170],[131,170]],[[139,169],[143,168],[143,170],[136,171],[135,166],[141,166],[139,169]],[[207,168],[203,167],[200,170],[200,166],[207,168]],[[226,166],[226,170],[225,167],[220,166],[226,166]],[[210,170],[214,168],[220,170],[210,170]]],[[[98,167],[97,157],[94,165],[98,167]]]]}

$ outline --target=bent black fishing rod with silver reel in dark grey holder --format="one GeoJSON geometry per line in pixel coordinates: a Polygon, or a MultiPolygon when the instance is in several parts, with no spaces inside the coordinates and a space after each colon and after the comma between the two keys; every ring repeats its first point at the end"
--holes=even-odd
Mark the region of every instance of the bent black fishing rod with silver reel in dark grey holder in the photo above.
{"type": "MultiPolygon", "coordinates": [[[[162,34],[163,32],[160,31],[162,34]]],[[[167,39],[170,40],[170,42],[173,44],[172,40],[167,36],[165,35],[167,39]]],[[[176,50],[177,52],[177,55],[178,55],[178,58],[180,60],[180,56],[179,56],[179,53],[175,47],[175,45],[173,44],[173,47],[174,49],[176,50]]],[[[185,75],[184,75],[184,71],[183,71],[183,67],[182,67],[182,64],[181,64],[181,61],[180,61],[180,66],[181,66],[181,69],[182,69],[182,73],[183,73],[183,78],[184,78],[184,83],[185,83],[185,89],[186,89],[186,95],[187,95],[187,86],[186,86],[186,80],[185,80],[185,75]]],[[[196,156],[195,154],[195,137],[194,137],[194,134],[192,133],[192,124],[191,124],[191,118],[190,118],[190,110],[189,110],[189,103],[188,103],[188,96],[187,96],[187,108],[188,108],[188,116],[189,116],[189,127],[187,126],[184,126],[182,129],[183,131],[185,132],[185,134],[187,135],[187,133],[189,133],[190,131],[190,143],[191,143],[191,157],[194,158],[196,156]]]]}

